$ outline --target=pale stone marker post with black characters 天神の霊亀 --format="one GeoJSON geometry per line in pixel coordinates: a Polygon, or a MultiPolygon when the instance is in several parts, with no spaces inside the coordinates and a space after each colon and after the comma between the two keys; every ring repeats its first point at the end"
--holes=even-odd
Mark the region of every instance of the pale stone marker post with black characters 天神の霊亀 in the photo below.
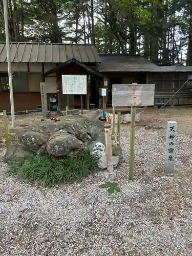
{"type": "Polygon", "coordinates": [[[175,173],[176,121],[167,121],[165,174],[175,173]]]}

